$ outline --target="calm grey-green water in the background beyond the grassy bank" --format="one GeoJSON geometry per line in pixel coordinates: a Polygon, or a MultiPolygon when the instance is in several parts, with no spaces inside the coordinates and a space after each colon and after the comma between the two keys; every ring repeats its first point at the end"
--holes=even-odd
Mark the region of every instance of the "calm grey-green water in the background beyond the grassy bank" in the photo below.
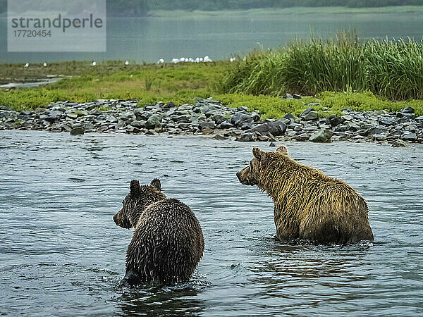
{"type": "MultiPolygon", "coordinates": [[[[293,9],[295,12],[295,9],[293,9]]],[[[214,60],[276,47],[310,31],[327,37],[338,30],[357,30],[362,39],[387,36],[421,40],[422,13],[281,14],[269,17],[108,18],[106,53],[8,53],[6,18],[0,18],[0,63],[125,60],[209,56],[214,60]],[[259,43],[259,44],[257,44],[259,43]]]]}

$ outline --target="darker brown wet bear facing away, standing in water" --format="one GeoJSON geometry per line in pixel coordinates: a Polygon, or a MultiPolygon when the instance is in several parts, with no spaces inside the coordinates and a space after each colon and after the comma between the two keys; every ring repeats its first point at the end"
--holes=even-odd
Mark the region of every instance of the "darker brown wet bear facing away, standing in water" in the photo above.
{"type": "Polygon", "coordinates": [[[130,182],[114,222],[135,228],[121,286],[185,282],[202,258],[204,238],[195,214],[178,199],[166,199],[157,178],[151,185],[130,182]]]}

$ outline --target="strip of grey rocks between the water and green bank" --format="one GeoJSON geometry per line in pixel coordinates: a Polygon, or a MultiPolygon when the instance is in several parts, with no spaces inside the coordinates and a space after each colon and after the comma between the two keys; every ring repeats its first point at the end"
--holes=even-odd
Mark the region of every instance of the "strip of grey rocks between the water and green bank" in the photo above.
{"type": "Polygon", "coordinates": [[[389,142],[405,147],[423,143],[423,116],[411,107],[398,113],[352,111],[343,116],[319,118],[315,104],[300,116],[288,113],[279,120],[261,120],[247,107],[228,108],[219,101],[198,99],[195,104],[173,103],[137,108],[136,100],[105,100],[78,104],[58,101],[35,111],[11,111],[0,106],[0,130],[118,132],[157,135],[210,135],[214,139],[252,141],[389,142]]]}

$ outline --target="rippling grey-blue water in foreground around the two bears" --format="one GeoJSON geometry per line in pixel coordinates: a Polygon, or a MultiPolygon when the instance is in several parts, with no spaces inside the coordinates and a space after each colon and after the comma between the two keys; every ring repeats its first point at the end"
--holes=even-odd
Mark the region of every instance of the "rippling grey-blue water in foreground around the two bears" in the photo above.
{"type": "Polygon", "coordinates": [[[0,131],[0,314],[421,315],[423,147],[287,146],[369,201],[373,244],[277,242],[271,199],[235,177],[252,143],[0,131]],[[132,230],[112,216],[155,177],[197,214],[204,257],[186,284],[118,290],[132,230]]]}

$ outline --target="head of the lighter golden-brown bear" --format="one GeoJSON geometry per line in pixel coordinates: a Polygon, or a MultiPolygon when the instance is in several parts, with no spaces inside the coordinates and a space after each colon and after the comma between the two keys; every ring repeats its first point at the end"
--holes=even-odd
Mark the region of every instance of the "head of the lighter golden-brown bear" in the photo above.
{"type": "Polygon", "coordinates": [[[262,187],[260,176],[263,171],[266,170],[267,166],[269,166],[269,163],[272,161],[278,160],[283,156],[288,156],[288,149],[286,149],[285,145],[281,145],[276,152],[266,153],[254,147],[252,149],[252,154],[254,158],[250,161],[250,165],[236,173],[236,176],[243,185],[257,185],[262,187]]]}

